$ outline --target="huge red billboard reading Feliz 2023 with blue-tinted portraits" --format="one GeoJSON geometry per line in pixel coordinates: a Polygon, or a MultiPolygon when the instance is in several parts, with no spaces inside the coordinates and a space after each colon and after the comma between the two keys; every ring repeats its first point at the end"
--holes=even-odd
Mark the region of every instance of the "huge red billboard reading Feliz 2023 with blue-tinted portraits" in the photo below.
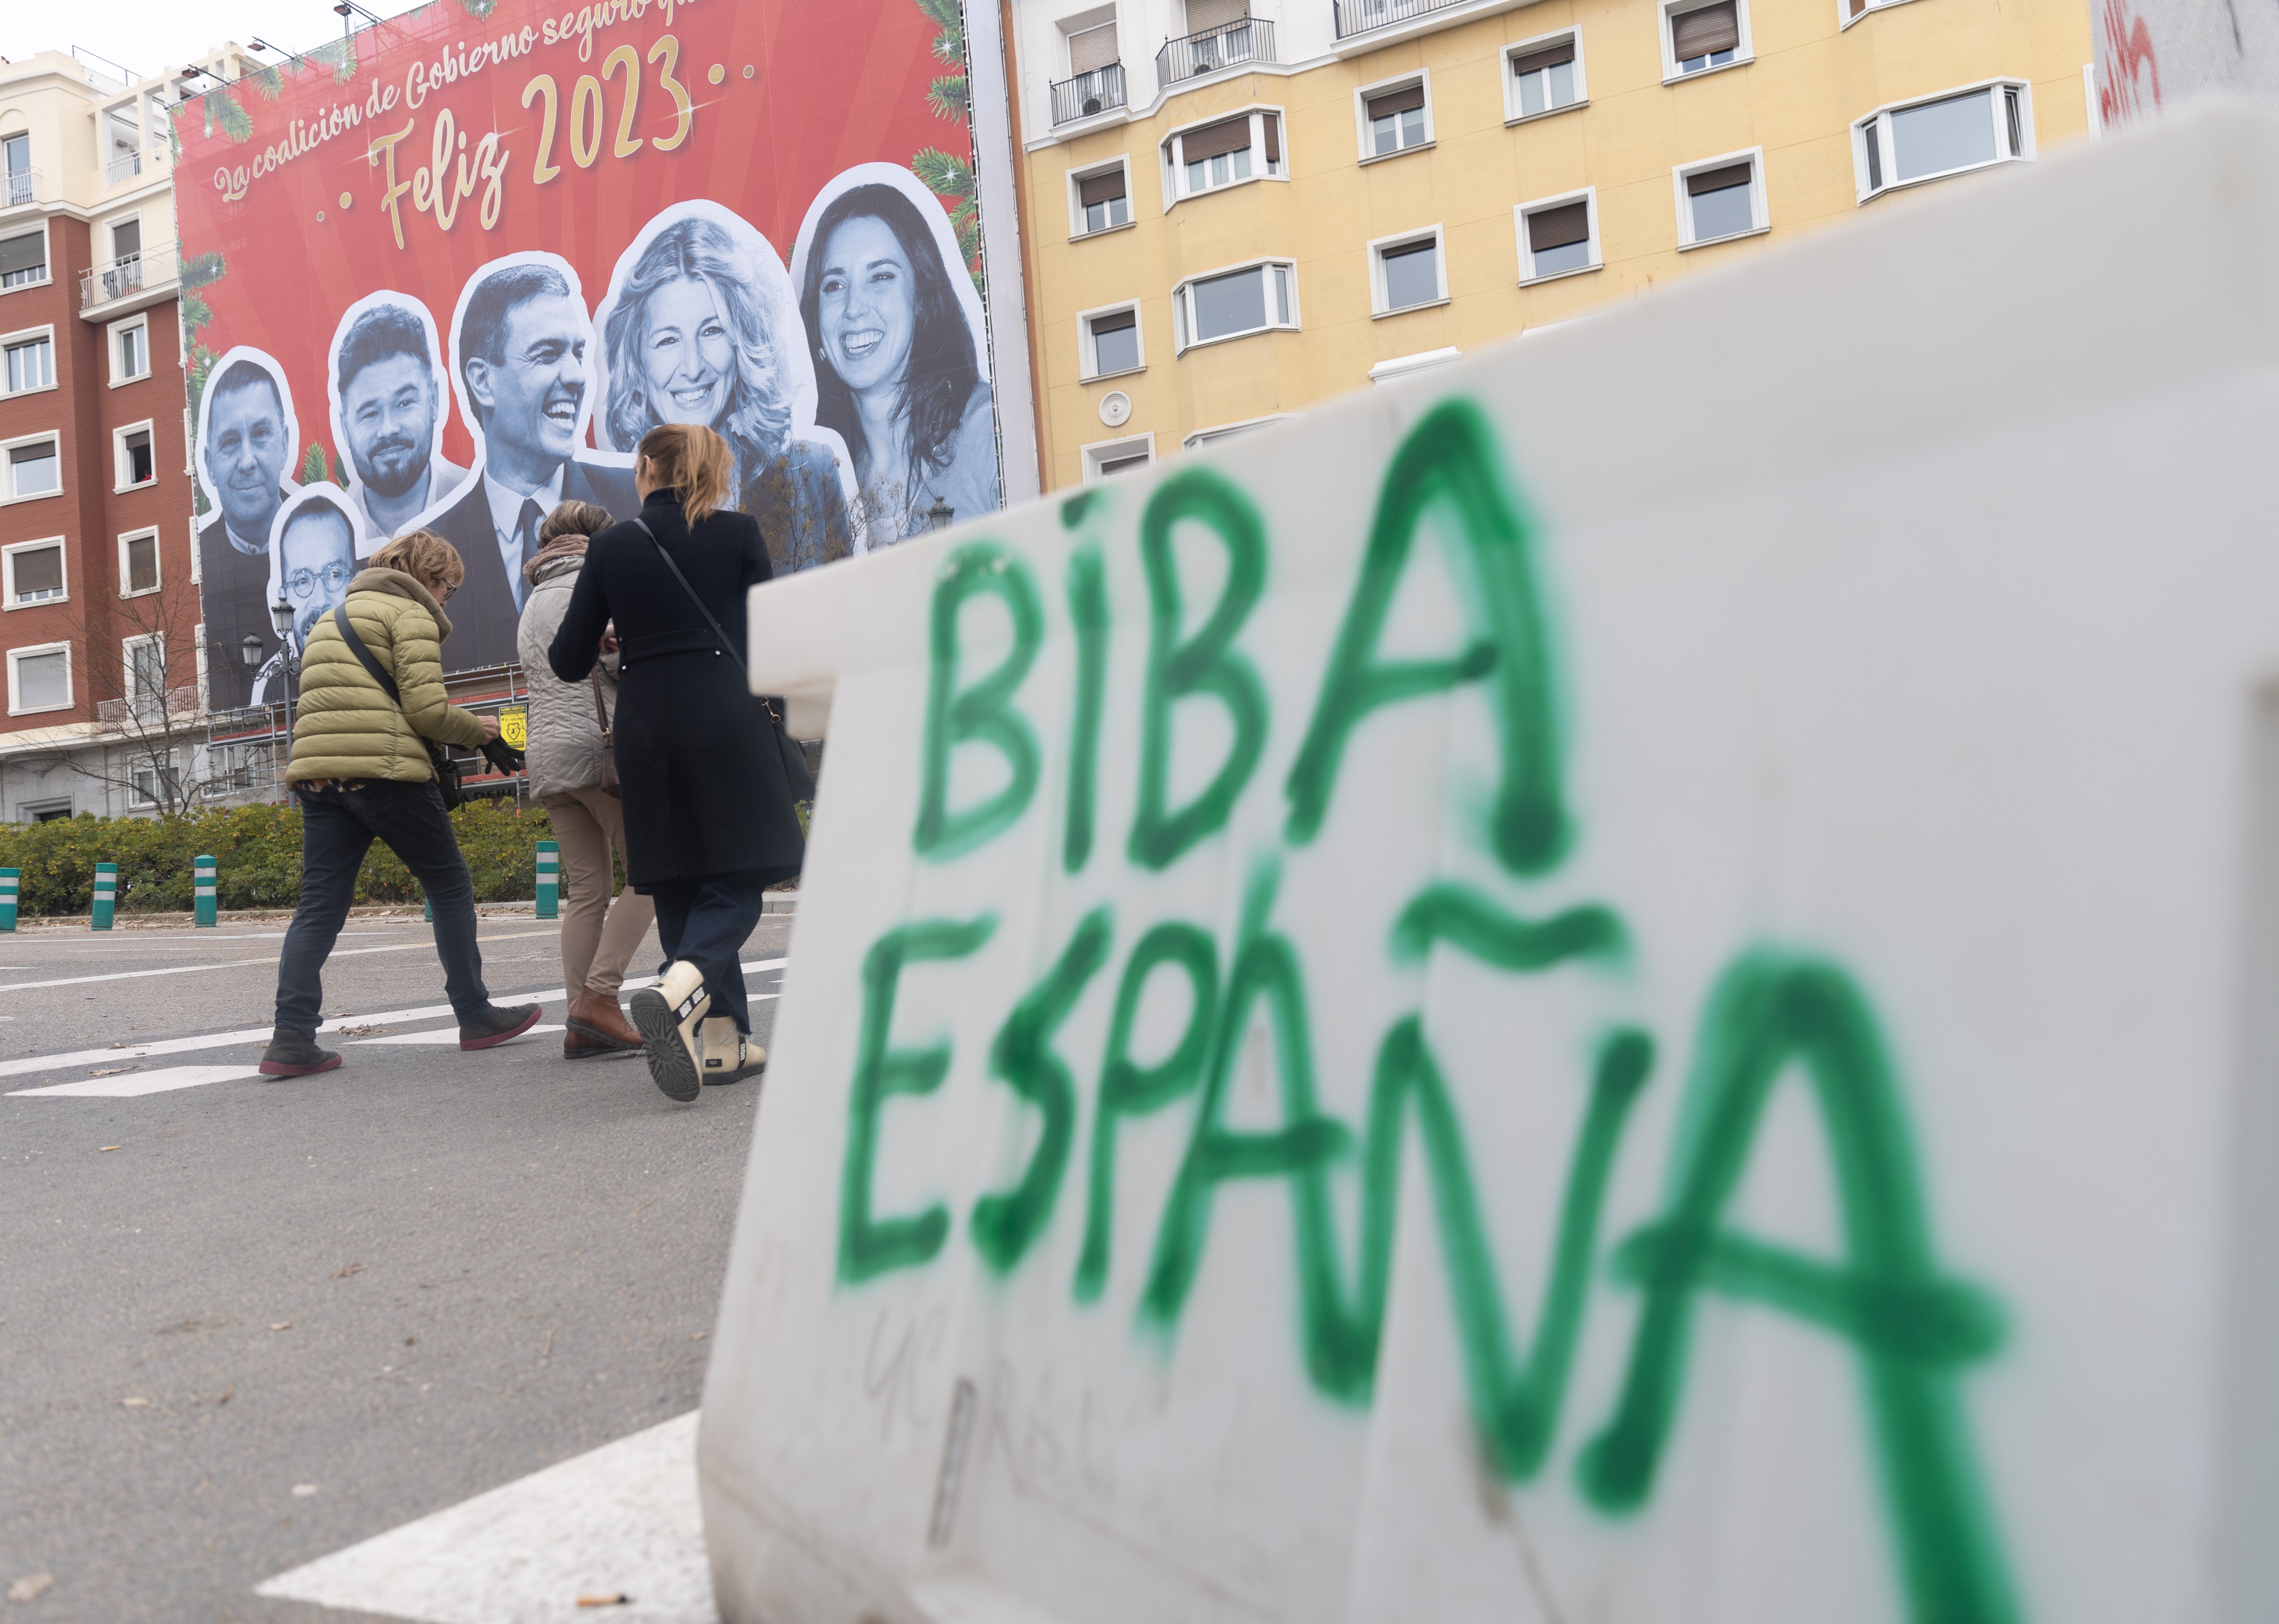
{"type": "Polygon", "coordinates": [[[438,0],[185,102],[212,702],[412,528],[444,663],[510,663],[545,515],[631,517],[659,424],[777,572],[1003,506],[964,57],[957,0],[438,0]]]}

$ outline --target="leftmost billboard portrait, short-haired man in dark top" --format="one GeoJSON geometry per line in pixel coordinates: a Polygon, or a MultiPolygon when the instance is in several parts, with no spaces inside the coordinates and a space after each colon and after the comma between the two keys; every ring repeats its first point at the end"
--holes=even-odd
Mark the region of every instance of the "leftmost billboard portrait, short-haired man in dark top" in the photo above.
{"type": "Polygon", "coordinates": [[[198,581],[217,706],[253,704],[253,672],[242,649],[246,638],[260,638],[255,665],[267,665],[278,651],[269,620],[269,535],[294,490],[299,451],[301,428],[285,369],[244,344],[228,351],[205,374],[194,458],[198,490],[212,508],[198,526],[198,581]]]}

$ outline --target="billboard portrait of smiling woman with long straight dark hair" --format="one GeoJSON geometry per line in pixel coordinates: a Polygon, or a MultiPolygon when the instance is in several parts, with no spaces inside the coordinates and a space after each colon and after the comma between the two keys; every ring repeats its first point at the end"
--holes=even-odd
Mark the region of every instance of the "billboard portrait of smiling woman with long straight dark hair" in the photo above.
{"type": "Polygon", "coordinates": [[[848,187],[809,239],[800,319],[816,353],[816,426],[855,458],[871,547],[998,508],[996,428],[973,328],[918,205],[848,187]]]}

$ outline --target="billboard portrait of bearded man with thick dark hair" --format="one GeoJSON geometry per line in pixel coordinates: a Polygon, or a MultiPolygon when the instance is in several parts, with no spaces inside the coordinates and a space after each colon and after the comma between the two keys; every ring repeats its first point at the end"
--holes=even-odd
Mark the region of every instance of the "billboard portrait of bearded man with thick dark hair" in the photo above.
{"type": "Polygon", "coordinates": [[[349,501],[371,547],[412,528],[467,483],[442,453],[451,417],[435,317],[410,294],[349,305],[333,333],[326,385],[333,440],[349,458],[349,501]]]}

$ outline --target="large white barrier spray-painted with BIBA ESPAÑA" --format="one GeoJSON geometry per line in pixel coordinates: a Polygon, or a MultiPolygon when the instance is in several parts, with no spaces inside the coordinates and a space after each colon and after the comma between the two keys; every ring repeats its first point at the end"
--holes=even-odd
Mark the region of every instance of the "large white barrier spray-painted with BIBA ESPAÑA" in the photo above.
{"type": "Polygon", "coordinates": [[[2215,107],[757,590],[722,1617],[2279,1617],[2274,444],[2215,107]]]}

